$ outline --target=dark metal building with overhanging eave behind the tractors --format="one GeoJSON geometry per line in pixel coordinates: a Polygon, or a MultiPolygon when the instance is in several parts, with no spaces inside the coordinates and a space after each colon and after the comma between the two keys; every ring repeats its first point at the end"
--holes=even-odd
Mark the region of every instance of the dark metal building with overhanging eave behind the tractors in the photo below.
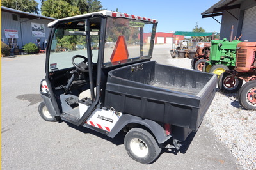
{"type": "Polygon", "coordinates": [[[220,39],[230,40],[241,36],[242,41],[256,42],[256,1],[255,0],[221,0],[202,13],[202,17],[222,15],[220,39]]]}

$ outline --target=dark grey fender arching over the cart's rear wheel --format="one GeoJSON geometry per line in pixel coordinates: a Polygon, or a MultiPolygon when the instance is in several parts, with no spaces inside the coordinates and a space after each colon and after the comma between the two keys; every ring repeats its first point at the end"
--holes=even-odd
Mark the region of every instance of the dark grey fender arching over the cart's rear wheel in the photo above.
{"type": "Polygon", "coordinates": [[[141,119],[140,117],[132,116],[131,114],[123,114],[111,132],[109,132],[108,137],[114,138],[116,134],[129,123],[136,123],[147,127],[154,134],[159,144],[164,143],[172,137],[171,135],[164,134],[164,128],[156,123],[156,121],[141,119]]]}

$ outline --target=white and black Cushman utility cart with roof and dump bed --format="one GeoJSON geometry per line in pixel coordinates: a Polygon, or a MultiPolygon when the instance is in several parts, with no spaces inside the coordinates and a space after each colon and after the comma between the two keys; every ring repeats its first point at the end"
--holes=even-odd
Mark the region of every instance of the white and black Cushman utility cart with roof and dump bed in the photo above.
{"type": "Polygon", "coordinates": [[[40,116],[112,138],[124,130],[128,155],[143,164],[163,143],[179,149],[200,127],[217,77],[150,61],[156,25],[109,11],[49,23],[40,116]]]}

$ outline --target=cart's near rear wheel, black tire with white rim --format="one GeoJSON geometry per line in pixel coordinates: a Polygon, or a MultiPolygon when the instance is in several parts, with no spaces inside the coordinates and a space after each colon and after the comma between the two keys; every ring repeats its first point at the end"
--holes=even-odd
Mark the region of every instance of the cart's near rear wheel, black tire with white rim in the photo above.
{"type": "Polygon", "coordinates": [[[132,128],[124,138],[124,146],[129,157],[142,164],[150,164],[161,153],[161,146],[147,130],[132,128]]]}

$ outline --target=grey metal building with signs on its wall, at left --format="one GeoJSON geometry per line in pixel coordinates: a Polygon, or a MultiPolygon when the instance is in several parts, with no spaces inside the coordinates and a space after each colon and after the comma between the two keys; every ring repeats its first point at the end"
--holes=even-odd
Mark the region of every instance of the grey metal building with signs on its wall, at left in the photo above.
{"type": "Polygon", "coordinates": [[[12,50],[29,42],[44,50],[50,32],[47,24],[52,20],[56,19],[1,6],[1,41],[12,50]]]}

